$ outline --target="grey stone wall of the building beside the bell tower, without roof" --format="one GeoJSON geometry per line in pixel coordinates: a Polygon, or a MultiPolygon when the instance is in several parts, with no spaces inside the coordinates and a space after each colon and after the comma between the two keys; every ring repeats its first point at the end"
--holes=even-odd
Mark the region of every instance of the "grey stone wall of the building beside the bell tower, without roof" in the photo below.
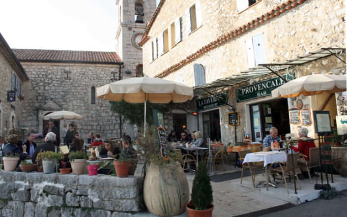
{"type": "MultiPolygon", "coordinates": [[[[99,99],[95,91],[95,104],[91,104],[91,88],[111,82],[111,72],[118,72],[119,65],[57,63],[57,62],[21,62],[30,83],[26,86],[26,100],[23,106],[23,124],[35,127],[36,132],[43,132],[43,116],[54,111],[73,111],[84,116],[83,120],[74,120],[80,138],[88,138],[91,131],[101,133],[102,138],[119,137],[119,120],[110,110],[107,100],[99,99]],[[71,71],[71,80],[65,80],[71,71]]],[[[70,124],[70,121],[65,121],[70,124]]],[[[62,138],[63,121],[60,121],[62,138]]],[[[103,139],[104,140],[104,139],[103,139]]]]}

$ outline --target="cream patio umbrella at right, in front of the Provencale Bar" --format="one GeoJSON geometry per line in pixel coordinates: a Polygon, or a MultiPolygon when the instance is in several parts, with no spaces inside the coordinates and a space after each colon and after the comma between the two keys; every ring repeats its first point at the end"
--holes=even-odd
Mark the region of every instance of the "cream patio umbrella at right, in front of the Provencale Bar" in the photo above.
{"type": "Polygon", "coordinates": [[[272,97],[292,98],[301,95],[317,95],[324,92],[337,93],[346,91],[347,77],[342,75],[312,74],[297,78],[273,90],[272,97]]]}

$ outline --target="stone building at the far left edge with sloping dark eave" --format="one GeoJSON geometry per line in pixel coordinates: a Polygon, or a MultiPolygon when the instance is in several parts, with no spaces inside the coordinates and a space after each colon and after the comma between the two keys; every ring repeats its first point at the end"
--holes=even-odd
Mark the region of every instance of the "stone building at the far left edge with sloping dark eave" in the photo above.
{"type": "Polygon", "coordinates": [[[22,95],[29,77],[1,33],[0,77],[0,134],[4,136],[9,128],[20,128],[24,122],[22,109],[26,99],[22,99],[22,95]],[[11,99],[9,92],[13,93],[11,99]]]}

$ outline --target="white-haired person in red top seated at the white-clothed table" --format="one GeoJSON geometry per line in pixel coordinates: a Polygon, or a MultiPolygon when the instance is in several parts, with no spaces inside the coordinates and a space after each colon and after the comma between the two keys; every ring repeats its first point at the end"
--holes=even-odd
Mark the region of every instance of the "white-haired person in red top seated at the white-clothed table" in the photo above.
{"type": "Polygon", "coordinates": [[[294,146],[291,146],[291,144],[289,144],[288,148],[292,148],[295,152],[299,152],[300,154],[307,156],[307,157],[304,157],[304,158],[301,157],[298,159],[297,163],[300,166],[300,168],[296,168],[295,172],[296,174],[298,174],[299,179],[300,178],[308,179],[310,177],[306,168],[305,160],[306,161],[310,160],[310,148],[316,148],[316,144],[313,141],[309,141],[312,139],[310,137],[307,137],[309,133],[309,130],[307,128],[300,127],[298,131],[299,131],[298,134],[300,137],[298,147],[295,148],[294,146]],[[301,171],[302,171],[302,174],[301,174],[301,171]]]}

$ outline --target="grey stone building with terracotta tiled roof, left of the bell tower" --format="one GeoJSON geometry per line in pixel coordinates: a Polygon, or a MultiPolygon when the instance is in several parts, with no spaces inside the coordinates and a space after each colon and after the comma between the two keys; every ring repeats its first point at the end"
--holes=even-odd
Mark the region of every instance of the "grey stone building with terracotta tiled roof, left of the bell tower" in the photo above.
{"type": "MultiPolygon", "coordinates": [[[[23,87],[24,103],[19,112],[24,125],[43,132],[48,121],[43,116],[54,111],[73,111],[84,116],[74,120],[80,138],[88,132],[102,138],[119,137],[119,120],[110,103],[96,97],[96,88],[109,84],[123,64],[115,52],[12,49],[30,78],[23,87]]],[[[70,121],[65,121],[70,124],[70,121]]],[[[63,121],[55,121],[62,138],[63,121]]]]}

